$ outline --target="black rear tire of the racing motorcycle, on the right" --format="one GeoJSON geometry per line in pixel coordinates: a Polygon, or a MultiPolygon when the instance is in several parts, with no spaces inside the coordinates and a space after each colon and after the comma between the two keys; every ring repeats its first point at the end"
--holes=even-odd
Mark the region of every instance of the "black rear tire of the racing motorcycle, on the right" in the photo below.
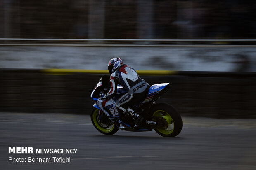
{"type": "Polygon", "coordinates": [[[182,129],[182,119],[178,111],[171,105],[166,103],[158,103],[154,105],[151,115],[166,119],[168,123],[167,128],[156,127],[154,130],[164,137],[175,137],[180,134],[182,129]]]}

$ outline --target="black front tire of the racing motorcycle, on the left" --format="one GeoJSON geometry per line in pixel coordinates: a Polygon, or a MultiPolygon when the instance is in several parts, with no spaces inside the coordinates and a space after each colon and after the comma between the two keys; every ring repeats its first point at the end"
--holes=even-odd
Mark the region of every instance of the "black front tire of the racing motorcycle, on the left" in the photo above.
{"type": "Polygon", "coordinates": [[[94,108],[91,113],[91,121],[93,126],[100,132],[103,133],[104,135],[113,135],[118,131],[118,127],[112,123],[111,125],[107,124],[102,124],[99,122],[99,109],[94,108]]]}

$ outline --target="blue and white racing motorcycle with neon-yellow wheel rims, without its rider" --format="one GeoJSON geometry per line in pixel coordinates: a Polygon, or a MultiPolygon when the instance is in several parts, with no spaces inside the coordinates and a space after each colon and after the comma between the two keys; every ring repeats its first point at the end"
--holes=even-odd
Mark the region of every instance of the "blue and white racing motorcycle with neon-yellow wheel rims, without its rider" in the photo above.
{"type": "MultiPolygon", "coordinates": [[[[161,95],[166,93],[171,87],[170,83],[154,84],[149,88],[149,92],[145,100],[137,107],[136,112],[142,114],[143,120],[139,127],[134,129],[134,119],[128,112],[123,113],[118,107],[115,107],[113,102],[106,103],[104,109],[107,110],[109,115],[105,114],[100,107],[97,106],[97,100],[101,93],[107,93],[109,91],[109,84],[104,81],[99,81],[91,93],[91,98],[95,102],[94,109],[91,113],[91,121],[93,126],[105,135],[113,135],[119,129],[126,131],[152,131],[154,129],[156,133],[163,137],[175,137],[182,129],[182,119],[176,109],[166,103],[157,103],[156,100],[161,95]],[[115,113],[115,114],[114,114],[115,113]],[[116,114],[117,113],[117,114],[116,114]],[[120,115],[119,119],[116,115],[120,115]],[[112,121],[111,121],[112,119],[112,121]],[[114,122],[113,122],[114,121],[114,122]]],[[[125,88],[118,85],[117,92],[113,100],[119,99],[121,95],[126,93],[125,88]]]]}

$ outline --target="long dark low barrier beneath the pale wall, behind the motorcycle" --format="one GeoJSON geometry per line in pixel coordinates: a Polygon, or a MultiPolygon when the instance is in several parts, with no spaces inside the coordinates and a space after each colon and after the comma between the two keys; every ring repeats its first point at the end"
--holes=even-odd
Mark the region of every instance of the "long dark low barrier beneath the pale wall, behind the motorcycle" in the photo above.
{"type": "MultiPolygon", "coordinates": [[[[0,70],[0,112],[90,114],[90,93],[101,75],[45,74],[40,70],[0,70]]],[[[256,74],[178,72],[142,76],[150,85],[171,82],[159,102],[181,115],[256,118],[256,74]]]]}

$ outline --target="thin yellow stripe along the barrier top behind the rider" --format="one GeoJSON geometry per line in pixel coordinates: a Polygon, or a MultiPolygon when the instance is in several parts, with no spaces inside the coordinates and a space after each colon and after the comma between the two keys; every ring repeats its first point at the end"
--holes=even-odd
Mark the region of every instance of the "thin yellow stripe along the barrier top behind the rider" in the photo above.
{"type": "MultiPolygon", "coordinates": [[[[43,69],[42,72],[49,74],[72,74],[72,73],[88,73],[88,74],[109,74],[108,70],[82,70],[82,69],[43,69]]],[[[139,75],[174,75],[178,71],[171,70],[137,70],[139,75]]]]}

